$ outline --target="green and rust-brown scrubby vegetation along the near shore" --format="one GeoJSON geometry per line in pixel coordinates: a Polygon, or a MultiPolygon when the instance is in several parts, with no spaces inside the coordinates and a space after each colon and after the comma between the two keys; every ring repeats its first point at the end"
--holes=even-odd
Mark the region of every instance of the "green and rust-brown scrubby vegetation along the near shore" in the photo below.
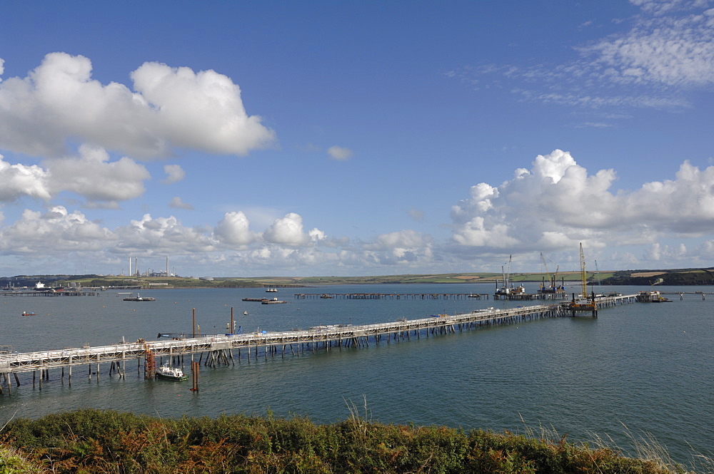
{"type": "MultiPolygon", "coordinates": [[[[647,457],[647,456],[645,456],[647,457]]],[[[0,433],[0,473],[685,473],[653,458],[438,426],[244,415],[161,419],[84,409],[20,418],[0,433]]]]}

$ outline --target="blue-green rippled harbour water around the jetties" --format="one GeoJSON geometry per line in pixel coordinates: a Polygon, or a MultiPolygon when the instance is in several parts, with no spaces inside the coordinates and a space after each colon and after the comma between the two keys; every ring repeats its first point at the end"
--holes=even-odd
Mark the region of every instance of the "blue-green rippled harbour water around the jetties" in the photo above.
{"type": "MultiPolygon", "coordinates": [[[[536,284],[526,284],[535,292],[536,284]]],[[[639,287],[603,291],[635,293],[639,287]]],[[[713,293],[714,287],[657,287],[661,292],[713,293]]],[[[575,290],[577,291],[577,290],[575,290]]],[[[307,329],[321,324],[371,324],[461,314],[488,306],[535,302],[493,299],[296,299],[296,293],[493,294],[491,284],[359,285],[279,289],[163,289],[142,291],[155,302],[124,302],[116,291],[96,297],[0,297],[0,346],[26,352],[101,346],[162,332],[191,331],[193,309],[201,334],[223,334],[231,308],[243,333],[307,329]],[[279,297],[288,304],[242,302],[279,297]],[[21,316],[22,311],[36,313],[21,316]],[[248,311],[247,315],[243,311],[248,311]]],[[[317,351],[250,364],[201,367],[200,391],[190,382],[144,381],[136,362],[125,379],[99,378],[89,368],[72,385],[51,371],[42,390],[31,374],[11,396],[0,396],[0,426],[12,417],[36,418],[76,408],[107,408],[154,416],[221,413],[308,416],[333,423],[361,413],[383,423],[483,428],[525,433],[528,428],[569,441],[612,440],[638,455],[633,438],[656,443],[673,460],[714,458],[714,294],[668,295],[664,304],[625,304],[599,317],[540,319],[369,347],[317,351]],[[133,367],[133,369],[132,369],[133,367]]],[[[538,302],[540,304],[542,302],[538,302]]],[[[188,370],[188,362],[184,369],[188,370]]],[[[94,371],[94,367],[91,369],[94,371]]]]}

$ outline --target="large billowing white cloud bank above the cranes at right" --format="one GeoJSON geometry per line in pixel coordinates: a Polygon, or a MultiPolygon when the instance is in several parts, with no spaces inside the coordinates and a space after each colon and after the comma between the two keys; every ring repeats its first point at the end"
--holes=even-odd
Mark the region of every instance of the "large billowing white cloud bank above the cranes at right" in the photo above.
{"type": "MultiPolygon", "coordinates": [[[[594,175],[562,150],[538,155],[498,187],[480,183],[453,206],[453,241],[466,247],[562,249],[655,242],[659,235],[714,232],[714,167],[680,165],[675,179],[612,189],[614,170],[594,175]]],[[[654,253],[653,253],[654,254],[654,253]]]]}

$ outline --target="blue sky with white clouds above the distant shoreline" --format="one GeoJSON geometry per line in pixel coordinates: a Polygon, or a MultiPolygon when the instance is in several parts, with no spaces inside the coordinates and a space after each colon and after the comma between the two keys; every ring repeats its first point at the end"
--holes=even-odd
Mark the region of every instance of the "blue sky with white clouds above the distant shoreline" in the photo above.
{"type": "Polygon", "coordinates": [[[0,274],[714,265],[711,1],[0,1],[0,274]]]}

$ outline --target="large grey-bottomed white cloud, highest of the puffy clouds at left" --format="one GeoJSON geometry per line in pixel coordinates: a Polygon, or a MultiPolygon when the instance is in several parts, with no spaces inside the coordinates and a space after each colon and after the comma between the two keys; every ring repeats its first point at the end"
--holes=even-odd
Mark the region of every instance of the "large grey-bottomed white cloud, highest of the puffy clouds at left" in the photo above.
{"type": "Polygon", "coordinates": [[[49,53],[25,78],[0,82],[0,148],[61,156],[75,140],[136,158],[174,148],[245,155],[275,138],[215,71],[144,63],[130,74],[134,92],[91,70],[89,58],[49,53]]]}

